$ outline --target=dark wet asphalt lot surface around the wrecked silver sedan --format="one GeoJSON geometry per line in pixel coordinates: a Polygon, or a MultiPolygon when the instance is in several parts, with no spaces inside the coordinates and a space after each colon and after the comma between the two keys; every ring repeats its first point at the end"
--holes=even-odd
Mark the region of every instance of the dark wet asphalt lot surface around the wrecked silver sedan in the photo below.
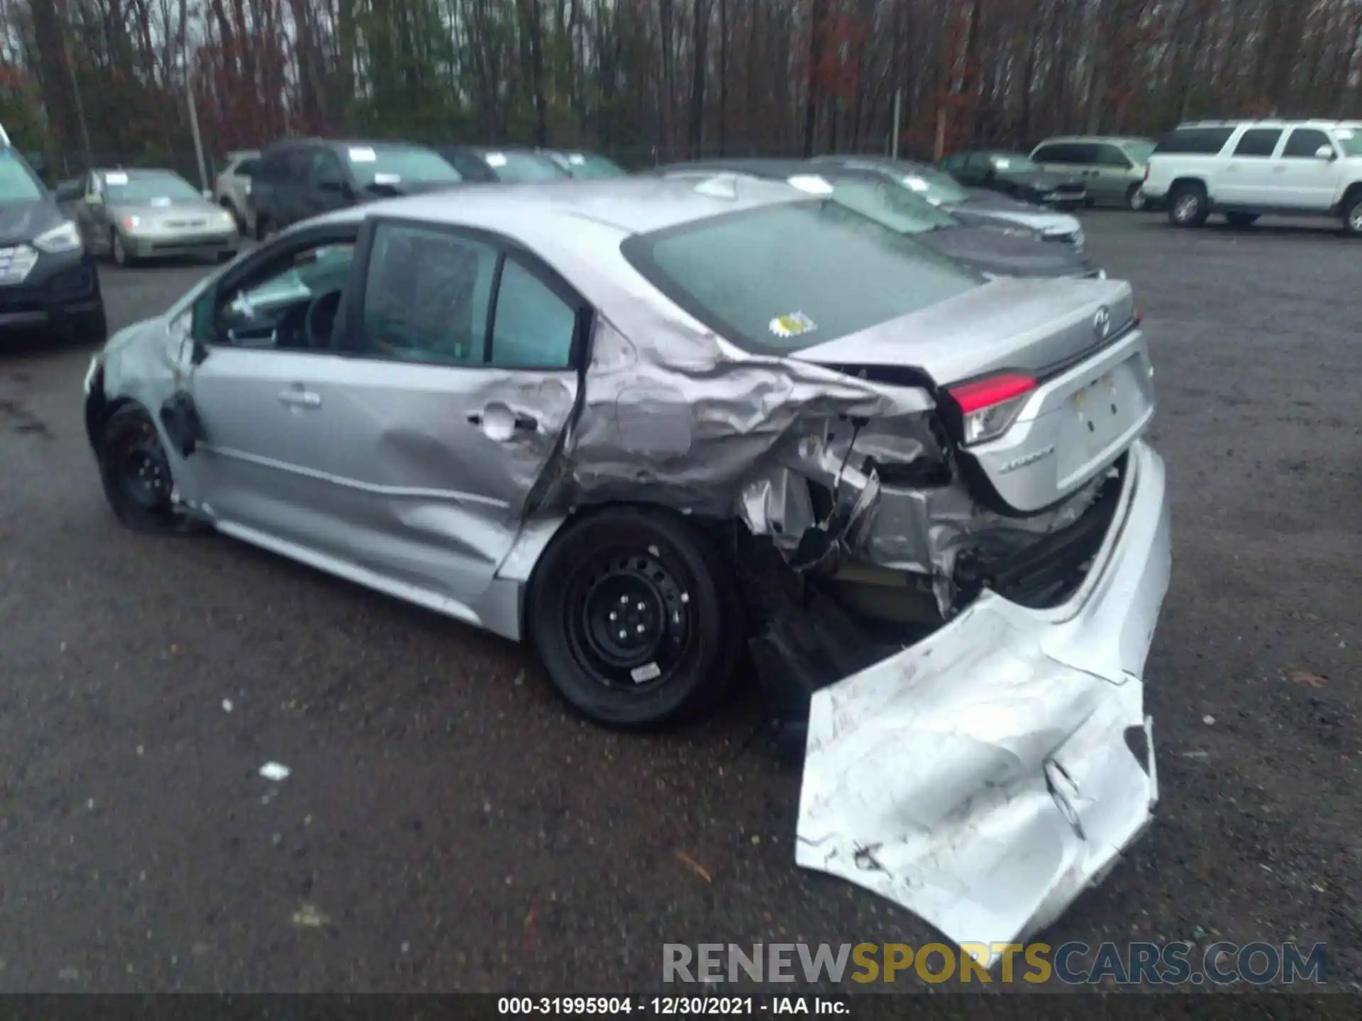
{"type": "MultiPolygon", "coordinates": [[[[1046,938],[1320,941],[1362,990],[1362,244],[1086,225],[1158,373],[1163,799],[1046,938]]],[[[207,271],[106,268],[110,328],[207,271]]],[[[497,638],[121,530],[89,354],[0,351],[0,991],[644,991],[663,942],[932,938],[794,866],[798,772],[750,697],[621,736],[497,638]]]]}

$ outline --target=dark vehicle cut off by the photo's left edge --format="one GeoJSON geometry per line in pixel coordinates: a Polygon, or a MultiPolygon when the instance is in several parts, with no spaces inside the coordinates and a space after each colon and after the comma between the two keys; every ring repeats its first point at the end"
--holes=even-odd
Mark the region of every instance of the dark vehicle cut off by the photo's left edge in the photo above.
{"type": "Polygon", "coordinates": [[[80,230],[25,158],[0,146],[0,342],[19,331],[104,339],[104,298],[80,230]]]}

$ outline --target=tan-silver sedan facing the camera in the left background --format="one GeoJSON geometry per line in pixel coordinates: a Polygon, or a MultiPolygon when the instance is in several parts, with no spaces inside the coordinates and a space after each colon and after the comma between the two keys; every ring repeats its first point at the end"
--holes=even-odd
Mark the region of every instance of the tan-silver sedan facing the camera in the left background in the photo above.
{"type": "Polygon", "coordinates": [[[118,265],[158,256],[226,260],[241,244],[233,215],[170,170],[91,170],[72,204],[86,248],[118,265]]]}

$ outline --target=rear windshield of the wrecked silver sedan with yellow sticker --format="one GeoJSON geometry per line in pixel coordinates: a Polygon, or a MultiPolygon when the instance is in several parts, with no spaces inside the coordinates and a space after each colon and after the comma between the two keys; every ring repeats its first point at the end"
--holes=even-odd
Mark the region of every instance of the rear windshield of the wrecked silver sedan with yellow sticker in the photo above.
{"type": "Polygon", "coordinates": [[[832,200],[712,216],[640,234],[621,250],[711,329],[776,354],[888,323],[983,282],[832,200]]]}

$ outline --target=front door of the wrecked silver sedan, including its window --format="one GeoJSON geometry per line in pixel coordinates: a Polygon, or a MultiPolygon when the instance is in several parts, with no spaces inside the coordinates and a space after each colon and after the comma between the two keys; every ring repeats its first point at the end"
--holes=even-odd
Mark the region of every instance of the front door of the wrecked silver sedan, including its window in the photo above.
{"type": "Polygon", "coordinates": [[[242,538],[332,560],[349,555],[335,483],[338,392],[330,312],[350,272],[355,227],[266,245],[195,306],[207,355],[189,393],[204,438],[192,455],[204,509],[242,538]],[[328,297],[331,295],[331,297],[328,297]]]}

